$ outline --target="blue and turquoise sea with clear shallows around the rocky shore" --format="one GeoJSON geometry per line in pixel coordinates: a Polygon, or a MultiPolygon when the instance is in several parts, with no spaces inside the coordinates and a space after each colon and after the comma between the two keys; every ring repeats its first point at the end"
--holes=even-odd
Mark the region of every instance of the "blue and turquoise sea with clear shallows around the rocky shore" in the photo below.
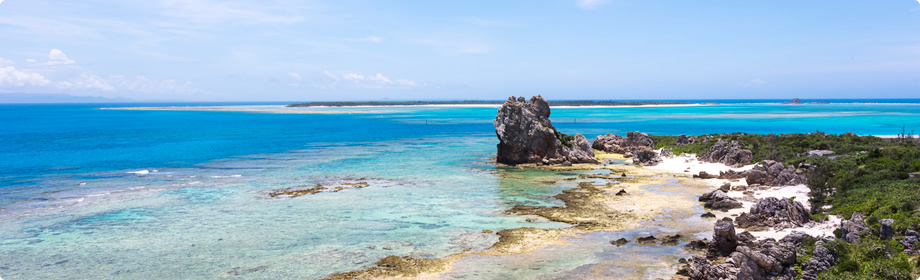
{"type": "MultiPolygon", "coordinates": [[[[550,119],[561,132],[589,140],[636,130],[920,130],[920,100],[806,101],[833,104],[718,100],[715,106],[555,108],[550,119]]],[[[328,112],[310,114],[117,109],[244,105],[0,104],[0,277],[310,279],[370,267],[388,255],[437,258],[484,250],[497,237],[483,230],[569,226],[503,214],[520,204],[561,205],[552,196],[577,182],[541,183],[572,175],[559,172],[497,172],[497,107],[321,108],[313,110],[328,112]],[[358,181],[368,186],[297,198],[269,195],[358,181]]],[[[442,278],[597,278],[585,271],[624,252],[636,263],[653,264],[610,273],[673,273],[660,263],[686,256],[677,247],[616,251],[606,243],[651,230],[586,235],[571,246],[490,259],[488,265],[470,258],[442,278]],[[532,262],[545,269],[531,269],[532,262]]]]}

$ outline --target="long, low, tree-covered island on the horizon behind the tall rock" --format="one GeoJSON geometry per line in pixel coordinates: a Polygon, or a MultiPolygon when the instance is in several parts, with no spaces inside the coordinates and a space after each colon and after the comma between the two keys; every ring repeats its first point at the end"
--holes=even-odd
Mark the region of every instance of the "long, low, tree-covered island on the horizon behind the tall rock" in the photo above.
{"type": "MultiPolygon", "coordinates": [[[[499,100],[454,100],[454,101],[329,101],[290,104],[287,107],[349,107],[349,106],[417,106],[417,105],[501,105],[499,100]]],[[[674,101],[613,101],[613,100],[556,100],[548,101],[550,106],[641,106],[641,105],[692,105],[692,102],[674,101]]]]}

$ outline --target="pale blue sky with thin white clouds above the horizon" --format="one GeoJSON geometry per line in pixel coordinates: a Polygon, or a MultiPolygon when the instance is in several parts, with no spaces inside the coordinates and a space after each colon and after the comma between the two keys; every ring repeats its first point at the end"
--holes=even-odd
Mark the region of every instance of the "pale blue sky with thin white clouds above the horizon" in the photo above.
{"type": "Polygon", "coordinates": [[[920,98],[920,1],[0,0],[0,94],[920,98]]]}

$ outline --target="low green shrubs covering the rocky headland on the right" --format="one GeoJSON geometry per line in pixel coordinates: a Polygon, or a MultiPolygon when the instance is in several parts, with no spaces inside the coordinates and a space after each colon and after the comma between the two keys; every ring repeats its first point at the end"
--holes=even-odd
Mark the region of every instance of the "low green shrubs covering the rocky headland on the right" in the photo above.
{"type": "MultiPolygon", "coordinates": [[[[894,240],[879,240],[879,221],[894,219],[896,233],[907,229],[920,230],[920,178],[910,173],[920,172],[920,144],[902,132],[897,139],[829,135],[821,132],[786,135],[750,135],[744,133],[698,136],[696,143],[677,146],[677,136],[652,136],[658,148],[672,148],[672,153],[709,151],[718,139],[742,143],[753,153],[755,162],[776,160],[786,165],[814,164],[808,186],[809,201],[815,218],[827,214],[848,218],[853,212],[867,217],[870,232],[860,244],[841,239],[824,246],[840,259],[837,265],[819,275],[819,279],[917,279],[920,257],[908,256],[903,246],[894,240]],[[811,150],[831,150],[833,157],[807,157],[811,150]],[[826,213],[822,206],[830,205],[826,213]]],[[[839,233],[839,231],[838,231],[839,233]]],[[[805,255],[799,256],[797,269],[811,258],[814,240],[808,240],[805,255]]]]}

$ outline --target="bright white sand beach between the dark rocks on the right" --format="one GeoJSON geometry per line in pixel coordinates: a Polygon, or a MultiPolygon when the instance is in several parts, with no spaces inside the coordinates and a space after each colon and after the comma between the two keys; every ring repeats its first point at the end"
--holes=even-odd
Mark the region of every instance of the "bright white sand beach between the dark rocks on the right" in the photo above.
{"type": "MultiPolygon", "coordinates": [[[[682,156],[673,156],[662,158],[663,162],[659,163],[657,166],[649,166],[646,168],[658,169],[670,173],[677,174],[687,174],[685,176],[692,176],[693,174],[699,174],[700,171],[705,171],[709,174],[719,174],[722,171],[734,170],[734,171],[745,171],[754,167],[754,165],[747,165],[740,168],[731,168],[721,163],[709,163],[701,162],[696,159],[695,155],[682,155],[682,156]]],[[[727,192],[728,196],[738,199],[741,201],[743,207],[738,209],[728,210],[726,212],[714,211],[713,214],[716,215],[716,219],[722,219],[724,217],[737,218],[742,212],[747,212],[751,209],[755,203],[751,201],[745,201],[741,198],[744,197],[744,194],[741,191],[735,191],[735,186],[747,185],[745,179],[737,180],[727,180],[727,179],[705,179],[702,180],[709,183],[713,188],[718,188],[719,186],[725,183],[731,183],[732,189],[727,192]],[[734,181],[734,182],[732,182],[734,181]]],[[[811,209],[811,204],[808,202],[808,193],[811,189],[806,185],[794,185],[794,186],[778,186],[770,187],[764,190],[753,190],[754,198],[763,199],[767,197],[776,197],[781,199],[794,198],[795,201],[802,203],[806,209],[811,209]]],[[[840,217],[836,215],[830,215],[828,219],[824,222],[812,222],[808,225],[798,228],[790,228],[782,231],[776,230],[766,230],[766,231],[750,231],[752,235],[757,238],[774,238],[779,240],[787,234],[793,231],[801,231],[815,237],[821,236],[834,236],[834,229],[840,225],[840,217]]],[[[744,232],[744,229],[736,229],[739,233],[744,232]]]]}

